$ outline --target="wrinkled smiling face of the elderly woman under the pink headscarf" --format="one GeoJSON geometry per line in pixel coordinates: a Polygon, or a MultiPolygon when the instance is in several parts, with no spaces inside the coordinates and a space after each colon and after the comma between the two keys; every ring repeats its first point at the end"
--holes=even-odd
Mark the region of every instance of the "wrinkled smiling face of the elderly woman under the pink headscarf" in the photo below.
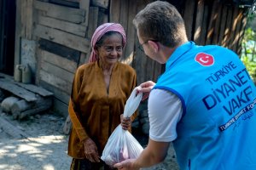
{"type": "Polygon", "coordinates": [[[122,40],[120,34],[113,34],[106,37],[102,45],[96,48],[102,64],[114,64],[119,60],[123,54],[122,40]]]}

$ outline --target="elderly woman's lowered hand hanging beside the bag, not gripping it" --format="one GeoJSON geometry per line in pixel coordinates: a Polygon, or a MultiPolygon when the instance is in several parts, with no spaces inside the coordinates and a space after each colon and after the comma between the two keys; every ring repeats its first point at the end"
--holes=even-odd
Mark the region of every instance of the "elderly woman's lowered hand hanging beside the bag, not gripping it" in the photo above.
{"type": "Polygon", "coordinates": [[[86,159],[91,162],[100,162],[100,156],[98,154],[98,150],[96,144],[92,139],[86,139],[84,141],[84,154],[86,159]]]}

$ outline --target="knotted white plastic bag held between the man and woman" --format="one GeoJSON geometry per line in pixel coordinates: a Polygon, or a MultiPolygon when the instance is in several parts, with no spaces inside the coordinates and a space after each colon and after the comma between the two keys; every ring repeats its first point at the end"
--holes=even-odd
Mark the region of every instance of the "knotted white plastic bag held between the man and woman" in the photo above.
{"type": "MultiPolygon", "coordinates": [[[[137,110],[143,98],[143,94],[137,94],[137,88],[133,89],[131,96],[126,101],[124,117],[130,117],[137,110]]],[[[135,139],[128,130],[124,130],[121,125],[119,125],[109,137],[101,159],[109,166],[113,166],[120,161],[137,158],[142,151],[143,147],[138,143],[137,139],[135,139]]]]}

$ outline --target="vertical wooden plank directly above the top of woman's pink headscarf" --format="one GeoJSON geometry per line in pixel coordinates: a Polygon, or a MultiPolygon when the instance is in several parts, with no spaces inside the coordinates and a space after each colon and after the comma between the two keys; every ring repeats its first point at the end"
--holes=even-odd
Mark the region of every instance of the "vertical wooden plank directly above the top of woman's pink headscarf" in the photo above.
{"type": "Polygon", "coordinates": [[[109,14],[109,21],[110,22],[120,22],[120,6],[121,6],[120,0],[111,0],[110,1],[110,14],[109,14]]]}

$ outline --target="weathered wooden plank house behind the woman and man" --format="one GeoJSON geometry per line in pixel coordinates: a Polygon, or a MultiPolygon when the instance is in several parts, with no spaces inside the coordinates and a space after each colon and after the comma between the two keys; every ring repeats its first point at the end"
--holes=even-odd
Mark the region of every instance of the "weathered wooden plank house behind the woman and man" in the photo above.
{"type": "MultiPolygon", "coordinates": [[[[54,94],[54,111],[67,116],[73,75],[90,56],[90,37],[104,22],[119,22],[127,35],[122,62],[137,71],[138,83],[164,70],[137,48],[132,20],[152,0],[1,0],[0,71],[14,75],[29,65],[32,83],[54,94]]],[[[189,40],[241,53],[247,10],[253,0],[169,0],[186,24],[189,40]]]]}

